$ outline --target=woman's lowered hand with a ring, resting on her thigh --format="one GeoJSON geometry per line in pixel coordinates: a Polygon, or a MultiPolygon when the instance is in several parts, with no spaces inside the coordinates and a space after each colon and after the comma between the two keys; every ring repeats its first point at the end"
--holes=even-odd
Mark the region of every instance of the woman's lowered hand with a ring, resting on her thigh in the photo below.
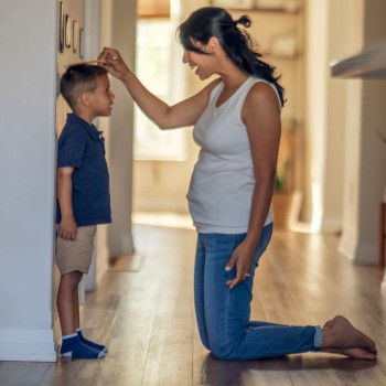
{"type": "Polygon", "coordinates": [[[255,249],[249,248],[245,242],[243,242],[233,253],[228,264],[225,267],[225,270],[229,271],[236,266],[236,278],[226,282],[230,289],[248,279],[250,276],[254,250],[255,249]]]}

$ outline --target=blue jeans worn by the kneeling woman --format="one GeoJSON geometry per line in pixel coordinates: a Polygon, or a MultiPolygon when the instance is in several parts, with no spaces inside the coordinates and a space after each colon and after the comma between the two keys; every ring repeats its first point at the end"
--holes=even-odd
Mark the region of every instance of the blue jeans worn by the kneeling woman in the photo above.
{"type": "Polygon", "coordinates": [[[229,289],[236,276],[225,266],[246,234],[200,234],[194,268],[194,302],[201,340],[219,360],[258,360],[319,351],[321,329],[249,321],[253,281],[258,261],[272,234],[262,229],[250,277],[229,289]],[[319,346],[315,346],[319,345],[319,346]]]}

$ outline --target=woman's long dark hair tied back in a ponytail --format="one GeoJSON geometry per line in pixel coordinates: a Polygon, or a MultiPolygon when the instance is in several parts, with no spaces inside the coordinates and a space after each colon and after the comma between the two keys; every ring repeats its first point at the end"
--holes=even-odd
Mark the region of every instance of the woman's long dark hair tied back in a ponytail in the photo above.
{"type": "Polygon", "coordinates": [[[275,67],[260,60],[261,54],[254,49],[250,35],[245,29],[250,25],[247,15],[233,20],[230,14],[222,8],[204,7],[194,11],[187,20],[179,26],[180,42],[187,51],[210,55],[200,50],[195,42],[207,44],[212,36],[218,39],[228,57],[247,74],[257,75],[272,83],[278,90],[281,105],[285,104],[285,89],[280,86],[280,76],[275,75],[275,67]]]}

